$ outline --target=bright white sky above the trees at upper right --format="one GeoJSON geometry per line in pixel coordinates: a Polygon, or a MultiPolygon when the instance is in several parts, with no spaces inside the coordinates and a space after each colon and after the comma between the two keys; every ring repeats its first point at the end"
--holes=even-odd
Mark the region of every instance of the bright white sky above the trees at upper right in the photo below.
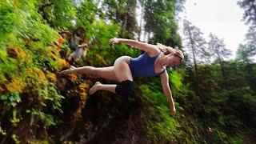
{"type": "MultiPolygon", "coordinates": [[[[242,10],[237,0],[186,0],[185,10],[180,14],[197,26],[208,41],[212,33],[224,39],[226,48],[235,54],[239,43],[243,43],[249,28],[242,21],[242,10]]],[[[182,22],[182,21],[180,21],[182,22]]],[[[180,23],[179,30],[182,30],[180,23]]],[[[234,55],[230,58],[234,58],[234,55]]]]}

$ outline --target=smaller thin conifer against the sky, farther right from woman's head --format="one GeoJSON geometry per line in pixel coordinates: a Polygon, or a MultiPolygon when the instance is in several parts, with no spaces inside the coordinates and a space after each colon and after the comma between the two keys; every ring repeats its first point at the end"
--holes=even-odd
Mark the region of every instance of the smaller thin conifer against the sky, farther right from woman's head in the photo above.
{"type": "Polygon", "coordinates": [[[208,42],[210,55],[214,57],[214,61],[217,61],[221,66],[222,76],[226,79],[225,70],[223,66],[224,58],[228,57],[231,52],[227,50],[223,39],[219,39],[214,34],[210,33],[210,42],[208,42]]]}

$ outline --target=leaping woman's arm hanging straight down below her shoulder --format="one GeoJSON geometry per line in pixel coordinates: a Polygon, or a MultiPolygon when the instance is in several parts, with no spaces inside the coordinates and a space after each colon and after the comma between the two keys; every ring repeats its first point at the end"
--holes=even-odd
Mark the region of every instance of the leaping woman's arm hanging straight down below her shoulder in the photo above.
{"type": "Polygon", "coordinates": [[[163,73],[161,76],[161,82],[162,82],[162,90],[164,94],[166,94],[166,98],[168,102],[170,103],[170,111],[171,114],[174,115],[176,113],[176,109],[174,106],[174,99],[172,97],[171,91],[170,91],[170,86],[169,86],[169,76],[167,72],[163,73]]]}

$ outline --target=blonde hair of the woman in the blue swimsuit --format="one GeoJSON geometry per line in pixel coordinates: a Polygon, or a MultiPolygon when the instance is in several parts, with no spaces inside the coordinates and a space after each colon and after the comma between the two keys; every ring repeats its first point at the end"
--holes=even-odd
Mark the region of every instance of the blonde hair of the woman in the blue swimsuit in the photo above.
{"type": "Polygon", "coordinates": [[[184,59],[184,55],[182,53],[182,50],[174,49],[170,46],[164,46],[161,43],[157,44],[159,50],[162,51],[163,54],[168,55],[168,54],[174,54],[175,56],[178,56],[179,58],[184,59]]]}

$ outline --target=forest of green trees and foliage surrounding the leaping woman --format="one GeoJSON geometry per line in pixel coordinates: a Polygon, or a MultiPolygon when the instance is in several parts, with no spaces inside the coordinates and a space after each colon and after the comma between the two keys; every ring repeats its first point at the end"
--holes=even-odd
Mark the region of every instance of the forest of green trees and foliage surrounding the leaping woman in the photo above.
{"type": "Polygon", "coordinates": [[[210,34],[206,40],[188,20],[178,26],[185,2],[1,0],[0,144],[255,143],[256,2],[237,2],[250,29],[234,59],[222,38],[210,34]],[[111,46],[110,38],[160,42],[184,52],[182,65],[167,70],[175,115],[158,77],[134,78],[126,118],[120,96],[88,94],[94,82],[113,82],[60,74],[143,53],[111,46]],[[86,44],[82,56],[70,57],[73,44],[86,44]]]}

